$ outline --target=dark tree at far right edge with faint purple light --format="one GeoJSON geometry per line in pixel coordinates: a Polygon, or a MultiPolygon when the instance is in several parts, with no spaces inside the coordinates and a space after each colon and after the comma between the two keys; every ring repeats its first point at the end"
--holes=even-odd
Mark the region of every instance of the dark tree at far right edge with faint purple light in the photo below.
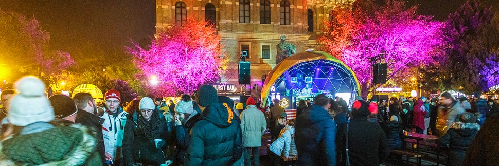
{"type": "Polygon", "coordinates": [[[471,94],[499,80],[499,18],[480,1],[467,1],[450,14],[445,28],[450,48],[440,68],[449,70],[452,88],[471,94]],[[495,16],[494,16],[495,15],[495,16]]]}

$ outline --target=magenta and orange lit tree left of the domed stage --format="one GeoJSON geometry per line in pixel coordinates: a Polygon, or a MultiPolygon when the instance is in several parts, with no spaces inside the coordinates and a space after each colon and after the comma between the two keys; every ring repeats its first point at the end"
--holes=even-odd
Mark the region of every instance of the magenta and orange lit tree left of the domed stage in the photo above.
{"type": "Polygon", "coordinates": [[[149,49],[135,44],[129,52],[149,92],[161,96],[192,94],[200,85],[219,79],[228,64],[216,30],[192,18],[158,33],[149,49]]]}

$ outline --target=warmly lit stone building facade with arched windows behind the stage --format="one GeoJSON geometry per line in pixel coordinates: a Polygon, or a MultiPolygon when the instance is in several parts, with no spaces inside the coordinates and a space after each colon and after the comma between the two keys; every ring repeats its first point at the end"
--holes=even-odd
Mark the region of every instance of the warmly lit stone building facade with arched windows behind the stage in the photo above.
{"type": "MultiPolygon", "coordinates": [[[[238,84],[241,51],[248,51],[251,85],[262,86],[262,76],[276,65],[280,36],[296,51],[314,49],[324,20],[336,6],[352,0],[156,0],[156,32],[182,25],[187,17],[215,24],[230,64],[221,83],[238,84]]],[[[248,86],[248,88],[251,86],[248,86]]],[[[239,90],[238,90],[239,91],[239,90]]],[[[251,91],[256,95],[256,91],[251,91]]]]}

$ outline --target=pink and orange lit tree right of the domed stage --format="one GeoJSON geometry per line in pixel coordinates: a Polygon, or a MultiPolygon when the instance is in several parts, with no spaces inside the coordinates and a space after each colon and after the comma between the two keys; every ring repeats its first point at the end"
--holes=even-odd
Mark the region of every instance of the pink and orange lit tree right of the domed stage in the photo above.
{"type": "Polygon", "coordinates": [[[432,63],[442,53],[443,23],[416,10],[400,0],[387,0],[384,5],[359,0],[332,13],[320,41],[327,52],[352,68],[362,84],[362,96],[367,96],[371,86],[369,58],[383,54],[387,79],[408,79],[404,73],[432,63]]]}

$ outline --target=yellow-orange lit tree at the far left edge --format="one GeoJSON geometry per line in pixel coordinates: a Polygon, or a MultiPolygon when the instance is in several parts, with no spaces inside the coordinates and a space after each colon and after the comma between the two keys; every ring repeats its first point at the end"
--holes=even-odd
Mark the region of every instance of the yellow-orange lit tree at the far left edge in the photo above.
{"type": "Polygon", "coordinates": [[[69,53],[50,50],[49,39],[36,19],[0,10],[0,65],[15,75],[10,79],[36,75],[51,85],[55,75],[74,63],[69,53]]]}

